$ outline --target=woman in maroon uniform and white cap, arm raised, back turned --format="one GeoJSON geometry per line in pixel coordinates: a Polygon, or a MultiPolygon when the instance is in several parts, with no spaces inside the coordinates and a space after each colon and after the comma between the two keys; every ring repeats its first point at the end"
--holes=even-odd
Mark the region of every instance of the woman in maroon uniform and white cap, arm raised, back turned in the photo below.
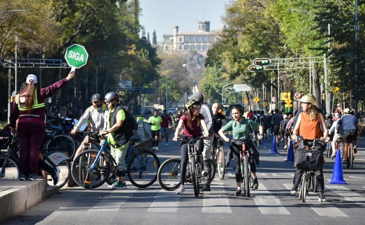
{"type": "Polygon", "coordinates": [[[42,180],[38,175],[39,153],[43,143],[46,120],[45,98],[67,84],[75,76],[70,71],[68,76],[55,82],[46,88],[37,89],[37,77],[29,74],[26,80],[26,88],[15,96],[10,115],[11,133],[16,132],[16,120],[18,120],[18,139],[20,144],[20,181],[42,180]]]}

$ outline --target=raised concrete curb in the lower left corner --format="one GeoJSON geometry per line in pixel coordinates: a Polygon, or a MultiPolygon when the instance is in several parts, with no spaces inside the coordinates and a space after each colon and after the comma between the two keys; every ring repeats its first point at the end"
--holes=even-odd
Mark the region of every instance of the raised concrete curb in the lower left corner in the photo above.
{"type": "Polygon", "coordinates": [[[0,222],[24,212],[43,199],[58,193],[57,186],[47,186],[46,181],[1,180],[0,222]]]}

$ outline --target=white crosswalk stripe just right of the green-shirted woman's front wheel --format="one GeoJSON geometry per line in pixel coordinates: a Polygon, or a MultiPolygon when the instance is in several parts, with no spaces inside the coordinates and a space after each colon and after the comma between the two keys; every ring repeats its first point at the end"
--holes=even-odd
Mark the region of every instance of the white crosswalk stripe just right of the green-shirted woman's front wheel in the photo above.
{"type": "Polygon", "coordinates": [[[290,215],[291,213],[282,206],[280,200],[273,196],[263,184],[259,184],[260,190],[255,190],[254,201],[262,214],[290,215]]]}

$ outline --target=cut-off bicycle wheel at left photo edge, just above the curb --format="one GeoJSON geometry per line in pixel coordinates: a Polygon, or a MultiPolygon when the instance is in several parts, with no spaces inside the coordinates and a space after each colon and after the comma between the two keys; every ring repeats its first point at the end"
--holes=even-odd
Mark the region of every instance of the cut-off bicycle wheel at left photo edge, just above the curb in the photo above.
{"type": "Polygon", "coordinates": [[[20,166],[17,160],[1,155],[0,166],[0,179],[19,179],[20,166]]]}

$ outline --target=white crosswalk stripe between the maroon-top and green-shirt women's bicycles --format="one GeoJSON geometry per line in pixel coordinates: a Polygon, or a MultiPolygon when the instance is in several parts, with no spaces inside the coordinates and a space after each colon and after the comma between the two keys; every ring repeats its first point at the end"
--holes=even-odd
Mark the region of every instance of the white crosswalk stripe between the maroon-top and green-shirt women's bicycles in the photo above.
{"type": "Polygon", "coordinates": [[[222,182],[212,182],[211,189],[217,189],[204,192],[203,213],[232,213],[228,198],[224,197],[224,186],[222,182]],[[212,198],[214,196],[214,198],[212,198]]]}

